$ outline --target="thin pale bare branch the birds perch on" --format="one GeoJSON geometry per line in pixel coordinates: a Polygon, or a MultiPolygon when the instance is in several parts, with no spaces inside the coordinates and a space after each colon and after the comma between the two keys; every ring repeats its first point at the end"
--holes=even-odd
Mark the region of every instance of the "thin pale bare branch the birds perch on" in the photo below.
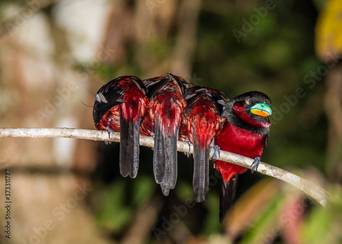
{"type": "MultiPolygon", "coordinates": [[[[120,142],[120,133],[117,132],[110,133],[109,138],[109,134],[107,133],[107,131],[96,131],[77,128],[0,128],[0,137],[69,137],[77,139],[90,139],[94,141],[120,142]]],[[[153,147],[153,138],[141,135],[140,145],[153,147]]],[[[179,152],[193,153],[194,147],[192,145],[189,146],[189,144],[183,141],[178,141],[177,150],[179,150],[179,152]]],[[[210,156],[213,156],[213,150],[211,150],[210,156]]],[[[234,163],[236,165],[240,165],[248,169],[252,168],[251,165],[253,163],[253,159],[232,152],[225,152],[222,150],[220,152],[220,155],[218,155],[217,159],[229,163],[234,163]]],[[[328,197],[329,193],[321,187],[318,187],[317,185],[313,184],[312,182],[304,180],[300,176],[296,176],[291,172],[282,170],[278,167],[263,162],[259,163],[257,172],[287,182],[293,185],[294,187],[297,187],[298,189],[304,191],[304,193],[306,193],[307,195],[310,195],[322,206],[325,206],[326,204],[326,198],[328,197]]]]}

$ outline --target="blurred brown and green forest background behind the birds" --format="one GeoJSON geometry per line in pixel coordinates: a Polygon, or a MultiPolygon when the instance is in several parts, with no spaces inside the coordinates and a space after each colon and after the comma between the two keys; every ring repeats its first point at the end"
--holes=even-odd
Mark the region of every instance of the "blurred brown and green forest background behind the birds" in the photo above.
{"type": "Polygon", "coordinates": [[[217,173],[209,199],[194,203],[193,159],[183,153],[165,197],[150,148],[131,179],[120,176],[116,143],[1,139],[13,202],[12,236],[1,231],[1,243],[342,243],[341,16],[340,0],[0,1],[1,127],[94,129],[103,84],[172,72],[230,98],[267,94],[274,114],[262,161],[331,193],[323,208],[246,172],[222,225],[217,173]]]}

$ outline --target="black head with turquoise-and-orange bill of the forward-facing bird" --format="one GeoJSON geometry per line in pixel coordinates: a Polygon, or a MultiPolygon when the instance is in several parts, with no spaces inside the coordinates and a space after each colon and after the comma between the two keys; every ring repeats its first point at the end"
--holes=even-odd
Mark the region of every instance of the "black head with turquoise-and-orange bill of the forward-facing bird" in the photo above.
{"type": "Polygon", "coordinates": [[[246,92],[226,103],[223,115],[229,120],[241,120],[254,127],[269,127],[268,116],[272,115],[269,107],[271,100],[262,92],[246,92]]]}

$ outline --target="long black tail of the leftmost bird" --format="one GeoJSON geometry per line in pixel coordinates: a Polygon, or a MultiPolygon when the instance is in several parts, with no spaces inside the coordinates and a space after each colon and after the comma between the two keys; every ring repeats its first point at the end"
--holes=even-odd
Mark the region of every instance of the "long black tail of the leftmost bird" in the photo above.
{"type": "Polygon", "coordinates": [[[140,120],[125,121],[120,111],[120,173],[135,178],[139,168],[140,120]]]}

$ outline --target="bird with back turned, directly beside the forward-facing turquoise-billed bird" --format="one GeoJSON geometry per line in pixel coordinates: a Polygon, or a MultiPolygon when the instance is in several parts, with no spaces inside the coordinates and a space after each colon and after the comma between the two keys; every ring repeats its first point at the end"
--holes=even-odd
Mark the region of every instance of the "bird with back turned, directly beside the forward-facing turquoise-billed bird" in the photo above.
{"type": "Polygon", "coordinates": [[[226,118],[221,117],[228,97],[208,87],[186,90],[187,108],[183,113],[180,137],[194,144],[194,199],[207,200],[209,192],[209,152],[226,118]]]}

